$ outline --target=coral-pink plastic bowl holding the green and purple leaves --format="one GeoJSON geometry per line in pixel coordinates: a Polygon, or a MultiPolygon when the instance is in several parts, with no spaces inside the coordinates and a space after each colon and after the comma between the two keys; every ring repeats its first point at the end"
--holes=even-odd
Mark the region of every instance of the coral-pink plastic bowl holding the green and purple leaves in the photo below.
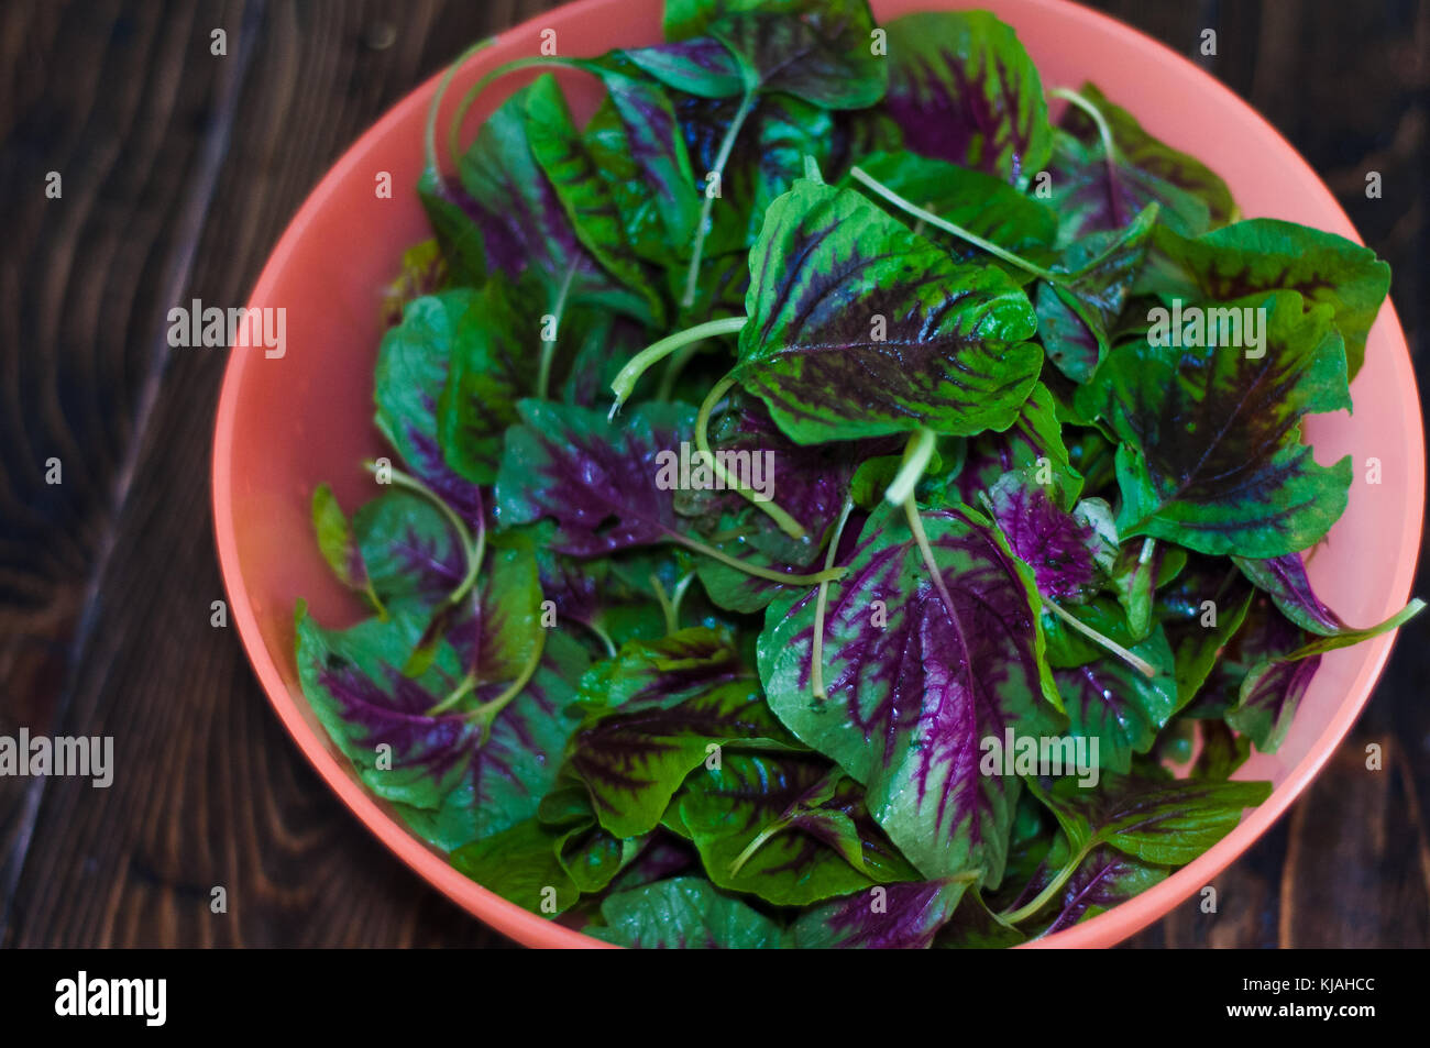
{"type": "MultiPolygon", "coordinates": [[[[881,20],[938,7],[937,0],[874,0],[881,20]]],[[[952,4],[951,4],[952,6],[952,4]]],[[[961,6],[961,4],[958,4],[961,6]]],[[[1108,17],[1061,0],[984,0],[1011,23],[1044,84],[1094,80],[1154,134],[1200,157],[1231,186],[1247,216],[1301,222],[1358,240],[1330,192],[1270,124],[1231,92],[1108,17]]],[[[449,100],[482,73],[535,54],[541,31],[558,47],[598,54],[661,39],[661,0],[582,0],[496,39],[458,74],[449,100]]],[[[499,81],[473,109],[468,132],[525,79],[499,81]]],[[[592,86],[566,81],[568,92],[592,86]]],[[[315,485],[329,480],[347,506],[370,495],[359,462],[379,453],[372,426],[372,365],[380,290],[405,247],[426,239],[416,197],[423,117],[436,77],[403,99],[349,149],[279,240],[250,307],[287,310],[287,352],[236,349],[229,359],[213,442],[213,520],[233,618],[273,709],[319,775],[353,814],[430,885],[482,921],[533,946],[593,946],[595,939],[506,902],[452,869],[359,785],[303,698],[293,661],[293,602],[319,622],[343,625],[360,608],[330,576],[309,525],[315,485]],[[373,189],[389,172],[390,199],[373,189]]],[[[443,114],[446,116],[446,114],[443,114]]],[[[445,127],[445,123],[439,124],[445,127]]],[[[469,140],[469,139],[468,139],[469,140]]],[[[1321,462],[1353,455],[1350,509],[1311,559],[1317,592],[1348,622],[1379,622],[1410,592],[1424,503],[1424,438],[1406,340],[1387,303],[1370,332],[1353,386],[1356,415],[1323,415],[1307,430],[1321,462]],[[1383,480],[1364,482],[1366,460],[1383,480]]],[[[1276,783],[1271,798],[1195,862],[1155,888],[1042,941],[1107,946],[1167,914],[1216,878],[1306,788],[1370,698],[1390,653],[1377,638],[1326,656],[1290,736],[1274,756],[1254,756],[1246,778],[1276,783]]]]}

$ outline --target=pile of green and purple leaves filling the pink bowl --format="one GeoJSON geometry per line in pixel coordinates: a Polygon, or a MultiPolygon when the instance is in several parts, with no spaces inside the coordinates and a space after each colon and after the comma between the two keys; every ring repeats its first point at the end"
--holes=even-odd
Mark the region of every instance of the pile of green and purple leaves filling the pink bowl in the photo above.
{"type": "Polygon", "coordinates": [[[1301,419],[1389,267],[1236,220],[987,13],[665,37],[503,67],[545,69],[460,147],[483,79],[455,174],[429,124],[393,455],[313,496],[372,608],[299,606],[315,711],[458,869],[618,944],[1011,945],[1158,882],[1266,799],[1231,775],[1321,655],[1420,608],[1354,629],[1303,562],[1353,475],[1301,419]],[[1214,307],[1256,347],[1157,336],[1214,307]]]}

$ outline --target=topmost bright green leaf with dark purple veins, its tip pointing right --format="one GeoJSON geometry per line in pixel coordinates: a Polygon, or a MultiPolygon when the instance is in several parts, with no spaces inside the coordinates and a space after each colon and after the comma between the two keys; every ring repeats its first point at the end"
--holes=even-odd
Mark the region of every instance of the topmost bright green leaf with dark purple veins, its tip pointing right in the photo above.
{"type": "Polygon", "coordinates": [[[1027,297],[852,190],[799,180],[751,252],[735,376],[799,443],[1004,429],[1037,382],[1027,297]]]}

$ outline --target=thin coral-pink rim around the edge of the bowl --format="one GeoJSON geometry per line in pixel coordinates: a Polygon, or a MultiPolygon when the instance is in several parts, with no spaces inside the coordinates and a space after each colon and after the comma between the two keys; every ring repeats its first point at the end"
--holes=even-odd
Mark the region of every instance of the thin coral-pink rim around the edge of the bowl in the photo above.
{"type": "MultiPolygon", "coordinates": [[[[588,11],[595,11],[619,3],[622,3],[622,0],[575,0],[573,3],[536,14],[532,19],[496,34],[492,37],[492,43],[500,43],[503,39],[518,33],[529,33],[538,27],[538,24],[551,24],[552,19],[565,20],[566,17],[583,17],[588,11]]],[[[1081,7],[1070,0],[1020,0],[1020,3],[1028,7],[1041,9],[1051,17],[1081,20],[1084,26],[1095,27],[1097,31],[1114,37],[1118,46],[1140,49],[1151,47],[1161,60],[1180,66],[1184,74],[1190,71],[1193,79],[1198,83],[1198,90],[1221,96],[1223,103],[1230,100],[1231,110],[1236,112],[1240,119],[1251,122],[1258,134],[1267,136],[1274,146],[1280,147],[1280,152],[1284,153],[1284,159],[1288,162],[1288,170],[1294,170],[1294,173],[1300,177],[1310,179],[1313,182],[1314,192],[1321,197],[1321,203],[1327,207],[1327,213],[1338,219],[1340,229],[1334,232],[1338,232],[1341,236],[1346,236],[1356,243],[1363,243],[1350,219],[1340,207],[1340,203],[1334,199],[1321,182],[1320,176],[1316,174],[1314,169],[1310,167],[1296,147],[1291,146],[1260,113],[1257,113],[1256,109],[1253,109],[1247,102],[1210,73],[1188,61],[1181,54],[1173,51],[1161,41],[1111,16],[1103,14],[1101,11],[1081,7]]],[[[874,6],[878,7],[882,4],[875,0],[874,6]]],[[[927,10],[950,10],[971,6],[975,7],[977,4],[958,1],[950,3],[950,0],[927,0],[927,10]]],[[[472,57],[480,57],[480,54],[482,53],[469,56],[469,61],[472,57]]],[[[282,272],[286,269],[296,244],[302,240],[313,216],[329,204],[329,199],[335,194],[336,186],[343,182],[346,173],[359,166],[362,159],[375,147],[375,144],[386,139],[395,127],[409,120],[413,109],[426,109],[428,102],[436,90],[443,73],[445,70],[439,70],[388,109],[388,112],[383,113],[376,123],[368,127],[368,130],[365,130],[358,140],[343,152],[337,162],[327,169],[319,183],[307,193],[303,203],[299,206],[297,213],[285,227],[277,244],[265,260],[263,269],[260,270],[259,277],[247,296],[247,305],[250,307],[262,306],[272,297],[273,286],[279,282],[282,272]]],[[[1421,536],[1424,522],[1424,420],[1414,380],[1414,369],[1409,366],[1409,349],[1404,333],[1394,305],[1389,296],[1377,316],[1376,325],[1386,325],[1389,327],[1387,333],[1393,343],[1390,349],[1393,350],[1399,347],[1400,356],[1404,357],[1407,363],[1404,369],[1406,382],[1399,385],[1401,407],[1406,412],[1406,417],[1411,420],[1411,438],[1416,435],[1414,430],[1419,430],[1419,440],[1410,440],[1411,448],[1409,465],[1411,466],[1411,498],[1409,500],[1410,510],[1401,522],[1401,536],[1406,539],[1404,545],[1413,550],[1413,555],[1397,565],[1394,585],[1391,586],[1391,593],[1399,593],[1400,603],[1404,603],[1410,595],[1416,573],[1416,565],[1420,553],[1419,538],[1421,536]],[[1419,489],[1419,498],[1414,498],[1414,489],[1419,489]]],[[[223,385],[214,417],[213,452],[210,460],[212,512],[214,545],[219,553],[223,585],[229,596],[229,610],[237,625],[239,638],[243,643],[245,652],[247,653],[249,662],[263,686],[269,705],[273,706],[273,711],[277,713],[283,728],[287,731],[289,736],[297,745],[299,751],[312,768],[327,783],[329,789],[333,791],[343,805],[346,805],[346,808],[359,819],[359,822],[362,822],[379,841],[382,841],[383,845],[386,845],[388,849],[392,851],[393,855],[396,855],[406,866],[422,876],[430,886],[446,895],[458,906],[479,918],[495,931],[502,932],[503,935],[508,935],[509,938],[525,945],[542,948],[608,946],[609,944],[601,942],[599,939],[593,939],[579,931],[573,931],[532,914],[531,911],[523,909],[515,902],[503,899],[476,881],[472,881],[458,872],[449,862],[446,862],[445,858],[430,849],[406,826],[403,826],[395,815],[383,809],[380,804],[370,794],[368,794],[355,778],[352,778],[346,766],[346,759],[335,755],[327,748],[327,742],[320,736],[320,733],[303,719],[295,696],[289,692],[287,685],[283,682],[277,663],[263,641],[257,616],[253,610],[252,598],[243,578],[239,560],[237,538],[233,526],[232,508],[235,502],[235,492],[230,469],[235,443],[233,433],[237,419],[239,390],[252,360],[252,355],[230,353],[225,367],[223,385]]],[[[1276,819],[1286,812],[1291,802],[1301,795],[1310,781],[1336,752],[1336,748],[1350,732],[1360,712],[1370,701],[1376,682],[1384,671],[1391,645],[1397,635],[1399,631],[1394,631],[1390,635],[1381,635],[1357,645],[1366,652],[1366,656],[1353,685],[1347,689],[1346,699],[1343,699],[1336,708],[1334,715],[1330,718],[1317,739],[1311,743],[1307,755],[1290,769],[1283,782],[1273,791],[1267,801],[1264,801],[1260,806],[1250,809],[1250,815],[1244,815],[1236,829],[1233,829],[1227,836],[1207,849],[1197,859],[1174,871],[1164,881],[1135,895],[1127,902],[1118,904],[1104,914],[1027,945],[1032,948],[1090,948],[1111,945],[1167,915],[1178,902],[1190,898],[1198,886],[1208,884],[1217,874],[1226,869],[1233,861],[1236,861],[1237,856],[1240,856],[1247,848],[1260,839],[1263,834],[1266,834],[1271,824],[1276,822],[1276,819]]]]}

